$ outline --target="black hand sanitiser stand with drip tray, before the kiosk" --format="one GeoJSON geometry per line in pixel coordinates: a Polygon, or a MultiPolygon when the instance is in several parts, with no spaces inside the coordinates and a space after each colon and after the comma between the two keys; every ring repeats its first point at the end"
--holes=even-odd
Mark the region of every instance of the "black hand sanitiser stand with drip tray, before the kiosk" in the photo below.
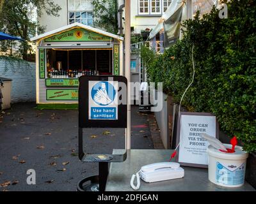
{"type": "MultiPolygon", "coordinates": [[[[77,184],[77,191],[105,191],[108,180],[108,163],[123,162],[127,157],[124,154],[86,154],[83,148],[84,128],[127,128],[127,103],[118,103],[118,120],[90,120],[88,117],[89,106],[89,82],[108,82],[109,79],[115,82],[122,82],[127,86],[125,77],[120,76],[83,76],[79,78],[79,129],[78,129],[78,154],[79,159],[84,163],[99,163],[99,175],[93,175],[80,180],[77,184]],[[122,117],[121,117],[122,114],[122,117]]],[[[121,89],[118,88],[118,91],[121,89]]],[[[117,95],[116,95],[117,96],[117,95]]],[[[118,96],[122,99],[124,96],[118,96]]],[[[126,96],[127,98],[127,93],[126,96]]]]}

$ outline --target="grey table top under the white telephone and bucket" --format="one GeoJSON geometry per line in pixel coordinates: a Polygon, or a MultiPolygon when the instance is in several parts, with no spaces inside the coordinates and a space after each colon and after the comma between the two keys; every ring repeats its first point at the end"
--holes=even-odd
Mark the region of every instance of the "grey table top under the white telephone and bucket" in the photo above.
{"type": "MultiPolygon", "coordinates": [[[[123,151],[114,149],[113,154],[123,151]]],[[[127,159],[123,163],[110,164],[106,191],[134,191],[130,186],[132,174],[146,164],[168,161],[172,152],[173,150],[127,150],[127,159]]],[[[188,166],[182,168],[185,171],[184,178],[154,183],[141,180],[137,191],[255,191],[247,182],[236,188],[217,186],[208,180],[207,169],[188,166]]]]}

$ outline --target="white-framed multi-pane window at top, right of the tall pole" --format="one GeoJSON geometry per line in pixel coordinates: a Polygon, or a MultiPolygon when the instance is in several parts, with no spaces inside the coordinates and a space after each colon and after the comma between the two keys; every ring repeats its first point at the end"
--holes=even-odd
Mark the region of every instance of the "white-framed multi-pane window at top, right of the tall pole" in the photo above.
{"type": "Polygon", "coordinates": [[[139,15],[157,15],[164,13],[172,0],[138,0],[139,15]]]}

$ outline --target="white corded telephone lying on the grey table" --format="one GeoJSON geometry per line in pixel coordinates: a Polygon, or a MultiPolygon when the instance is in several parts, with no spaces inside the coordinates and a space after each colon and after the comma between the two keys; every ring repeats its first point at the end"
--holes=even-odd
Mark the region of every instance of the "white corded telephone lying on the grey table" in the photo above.
{"type": "Polygon", "coordinates": [[[140,178],[145,182],[157,182],[161,180],[179,179],[184,177],[184,169],[179,163],[161,162],[142,166],[141,170],[132,175],[131,187],[134,190],[140,188],[140,178]],[[134,179],[137,177],[137,186],[134,186],[134,179]]]}

